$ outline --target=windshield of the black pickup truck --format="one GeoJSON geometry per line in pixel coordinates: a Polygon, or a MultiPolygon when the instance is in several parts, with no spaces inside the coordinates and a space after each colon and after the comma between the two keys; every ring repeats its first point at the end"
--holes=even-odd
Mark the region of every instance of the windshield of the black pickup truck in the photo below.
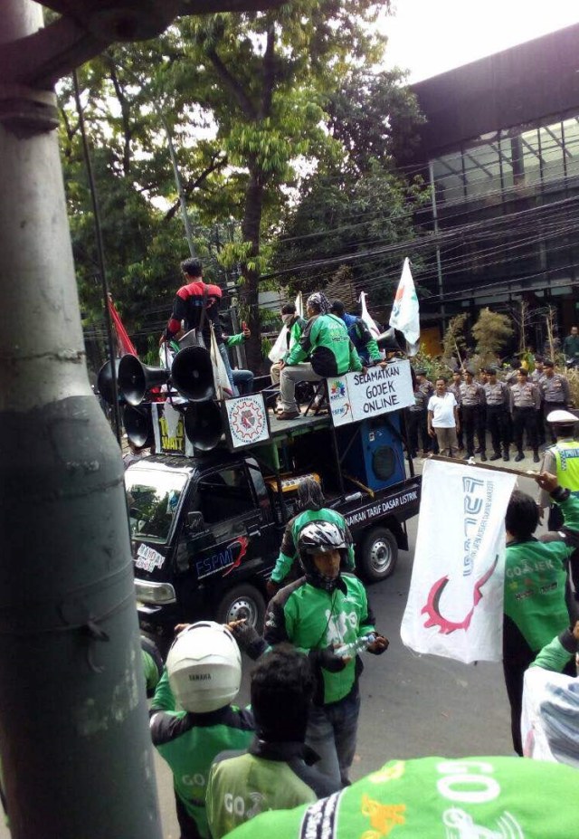
{"type": "Polygon", "coordinates": [[[166,542],[184,490],[186,474],[128,469],[125,472],[131,536],[166,542]]]}

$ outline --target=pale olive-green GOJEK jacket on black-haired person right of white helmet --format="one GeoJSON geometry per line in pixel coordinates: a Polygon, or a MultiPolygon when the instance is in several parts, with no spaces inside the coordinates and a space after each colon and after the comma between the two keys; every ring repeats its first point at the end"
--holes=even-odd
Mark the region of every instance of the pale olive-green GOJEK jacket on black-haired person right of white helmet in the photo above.
{"type": "Polygon", "coordinates": [[[288,810],[336,792],[329,777],[308,765],[316,757],[303,743],[254,739],[242,754],[215,758],[206,798],[213,839],[267,810],[288,810]]]}

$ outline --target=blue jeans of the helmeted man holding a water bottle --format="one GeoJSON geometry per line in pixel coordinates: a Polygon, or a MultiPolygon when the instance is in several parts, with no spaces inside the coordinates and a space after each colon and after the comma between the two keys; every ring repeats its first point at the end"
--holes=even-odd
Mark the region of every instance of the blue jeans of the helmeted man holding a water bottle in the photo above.
{"type": "Polygon", "coordinates": [[[356,687],[343,700],[309,710],[306,743],[318,752],[318,771],[337,784],[349,783],[347,773],[356,753],[360,693],[356,687]]]}

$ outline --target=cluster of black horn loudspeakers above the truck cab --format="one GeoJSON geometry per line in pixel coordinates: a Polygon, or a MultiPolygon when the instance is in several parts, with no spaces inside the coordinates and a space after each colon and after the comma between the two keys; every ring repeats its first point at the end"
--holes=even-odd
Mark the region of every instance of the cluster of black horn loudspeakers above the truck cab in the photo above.
{"type": "Polygon", "coordinates": [[[214,367],[207,349],[181,349],[170,370],[148,367],[132,355],[116,359],[114,366],[115,373],[110,361],[100,368],[99,392],[103,399],[112,404],[112,377],[116,374],[119,401],[124,405],[123,424],[131,443],[145,447],[153,444],[150,391],[163,385],[169,388],[168,400],[171,387],[186,400],[185,403],[172,405],[183,414],[185,435],[194,447],[201,452],[209,452],[219,443],[223,423],[219,405],[215,401],[214,367]],[[148,402],[144,401],[147,394],[148,402]]]}

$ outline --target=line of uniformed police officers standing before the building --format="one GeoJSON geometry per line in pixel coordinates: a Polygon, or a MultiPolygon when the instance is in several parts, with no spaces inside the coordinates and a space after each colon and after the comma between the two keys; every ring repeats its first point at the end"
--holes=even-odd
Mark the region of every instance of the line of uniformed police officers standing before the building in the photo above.
{"type": "MultiPolygon", "coordinates": [[[[509,460],[510,443],[515,443],[516,461],[524,458],[523,444],[527,435],[527,445],[533,450],[534,462],[539,462],[539,445],[546,442],[546,429],[555,443],[553,430],[546,424],[546,415],[556,409],[572,406],[569,382],[560,373],[555,373],[555,365],[550,359],[536,357],[536,367],[529,374],[519,361],[511,362],[498,378],[497,367],[486,367],[479,380],[471,367],[452,374],[452,383],[448,390],[454,395],[460,414],[459,448],[463,451],[466,443],[465,459],[479,454],[481,461],[487,460],[487,431],[490,434],[493,453],[489,460],[500,457],[509,460]],[[475,436],[478,447],[475,449],[475,436]]],[[[434,393],[432,382],[426,377],[421,367],[415,369],[414,405],[408,409],[408,438],[411,455],[416,457],[419,438],[422,443],[422,455],[436,453],[436,442],[427,432],[427,405],[434,393]]]]}

